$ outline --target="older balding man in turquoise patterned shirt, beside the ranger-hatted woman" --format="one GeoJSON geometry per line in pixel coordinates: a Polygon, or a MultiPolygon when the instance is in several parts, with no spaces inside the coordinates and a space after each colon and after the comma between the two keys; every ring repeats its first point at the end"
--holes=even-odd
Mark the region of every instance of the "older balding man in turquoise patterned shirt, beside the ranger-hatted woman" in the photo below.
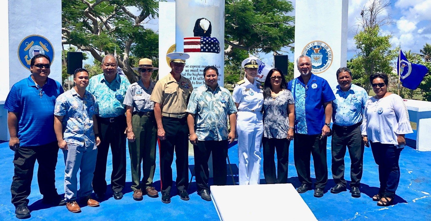
{"type": "Polygon", "coordinates": [[[99,104],[97,123],[102,144],[98,147],[97,163],[94,170],[93,188],[96,197],[102,200],[106,193],[106,160],[109,145],[112,152],[111,188],[114,199],[123,197],[121,192],[126,184],[126,106],[123,104],[129,80],[117,74],[117,58],[106,55],[102,60],[103,74],[91,77],[87,90],[99,104]]]}

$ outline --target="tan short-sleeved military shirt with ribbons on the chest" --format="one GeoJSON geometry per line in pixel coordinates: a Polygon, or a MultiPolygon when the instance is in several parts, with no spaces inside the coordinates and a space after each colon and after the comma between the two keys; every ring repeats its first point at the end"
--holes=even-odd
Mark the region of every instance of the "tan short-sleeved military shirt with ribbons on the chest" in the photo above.
{"type": "Polygon", "coordinates": [[[154,86],[150,100],[162,106],[162,113],[184,114],[193,86],[191,81],[181,75],[179,82],[169,73],[154,86]]]}

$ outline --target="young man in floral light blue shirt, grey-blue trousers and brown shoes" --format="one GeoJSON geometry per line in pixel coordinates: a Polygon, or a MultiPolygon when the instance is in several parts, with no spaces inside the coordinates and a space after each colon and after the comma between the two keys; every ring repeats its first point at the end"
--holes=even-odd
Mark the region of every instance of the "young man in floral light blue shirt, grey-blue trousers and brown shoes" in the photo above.
{"type": "Polygon", "coordinates": [[[56,99],[54,107],[54,130],[58,147],[64,153],[66,164],[64,195],[66,207],[70,212],[81,211],[76,202],[78,199],[76,178],[78,169],[81,169],[79,178],[81,200],[88,206],[99,205],[99,202],[90,196],[93,192],[91,182],[100,138],[96,120],[98,109],[96,98],[85,90],[88,79],[87,70],[77,69],[73,76],[76,86],[60,95],[56,99]]]}

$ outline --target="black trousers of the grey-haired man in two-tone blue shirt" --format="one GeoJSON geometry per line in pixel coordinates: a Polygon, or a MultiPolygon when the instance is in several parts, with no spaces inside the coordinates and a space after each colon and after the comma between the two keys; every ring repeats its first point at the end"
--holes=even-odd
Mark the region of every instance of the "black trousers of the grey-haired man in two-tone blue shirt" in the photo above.
{"type": "Polygon", "coordinates": [[[321,135],[294,135],[294,160],[298,178],[301,183],[311,186],[310,153],[313,156],[316,188],[325,189],[328,182],[328,164],[326,163],[327,137],[319,139],[321,135]]]}

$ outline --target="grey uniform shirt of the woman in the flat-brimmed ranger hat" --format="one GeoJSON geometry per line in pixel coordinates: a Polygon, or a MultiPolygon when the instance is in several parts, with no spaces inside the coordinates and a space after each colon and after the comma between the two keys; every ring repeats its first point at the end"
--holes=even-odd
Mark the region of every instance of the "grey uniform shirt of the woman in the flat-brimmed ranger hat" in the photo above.
{"type": "Polygon", "coordinates": [[[147,89],[142,80],[132,83],[124,96],[123,104],[133,107],[133,112],[152,112],[154,102],[150,100],[156,83],[150,81],[150,87],[147,89]]]}

